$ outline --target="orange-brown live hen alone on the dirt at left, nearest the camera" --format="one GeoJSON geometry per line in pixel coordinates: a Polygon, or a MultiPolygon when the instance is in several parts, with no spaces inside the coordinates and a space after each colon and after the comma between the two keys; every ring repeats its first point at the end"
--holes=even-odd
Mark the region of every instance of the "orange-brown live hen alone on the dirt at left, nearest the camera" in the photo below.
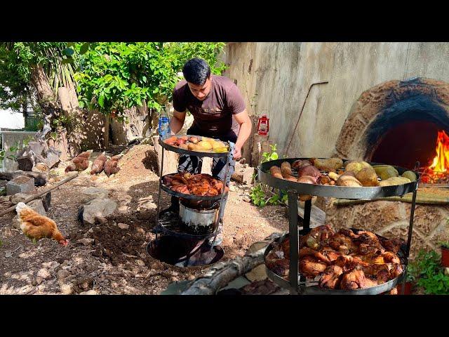
{"type": "Polygon", "coordinates": [[[39,240],[46,237],[48,239],[54,239],[59,244],[62,244],[62,246],[69,244],[69,240],[62,236],[56,223],[50,218],[41,216],[23,202],[17,204],[15,211],[17,211],[20,218],[20,229],[30,239],[39,240]]]}

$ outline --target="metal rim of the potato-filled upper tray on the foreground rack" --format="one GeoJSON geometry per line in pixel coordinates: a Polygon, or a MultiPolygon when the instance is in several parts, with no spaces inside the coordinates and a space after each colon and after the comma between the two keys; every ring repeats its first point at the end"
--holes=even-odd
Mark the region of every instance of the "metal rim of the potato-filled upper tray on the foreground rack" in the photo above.
{"type": "MultiPolygon", "coordinates": [[[[295,190],[300,194],[316,195],[319,197],[335,197],[342,199],[375,199],[380,197],[403,196],[404,194],[413,192],[417,189],[418,180],[411,183],[394,186],[377,186],[377,187],[346,187],[336,185],[315,185],[306,183],[297,183],[295,181],[276,178],[269,173],[272,166],[281,166],[283,161],[290,164],[298,159],[309,158],[290,158],[266,161],[257,167],[257,179],[262,183],[266,183],[281,190],[295,190]]],[[[343,159],[344,160],[344,159],[343,159]]],[[[380,163],[369,163],[371,165],[382,165],[380,163]]],[[[393,166],[399,174],[410,171],[399,166],[393,166]]],[[[415,172],[416,176],[419,174],[415,172]]]]}

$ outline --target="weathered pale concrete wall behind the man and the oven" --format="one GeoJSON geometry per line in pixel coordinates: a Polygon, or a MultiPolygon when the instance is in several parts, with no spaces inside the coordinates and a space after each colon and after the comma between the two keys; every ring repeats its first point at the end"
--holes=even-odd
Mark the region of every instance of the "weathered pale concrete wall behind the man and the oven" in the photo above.
{"type": "Polygon", "coordinates": [[[288,157],[333,154],[351,105],[377,84],[409,77],[449,82],[448,43],[231,43],[222,59],[248,112],[270,118],[269,139],[280,154],[293,136],[288,157]],[[309,86],[319,81],[329,83],[311,88],[293,135],[309,86]]]}

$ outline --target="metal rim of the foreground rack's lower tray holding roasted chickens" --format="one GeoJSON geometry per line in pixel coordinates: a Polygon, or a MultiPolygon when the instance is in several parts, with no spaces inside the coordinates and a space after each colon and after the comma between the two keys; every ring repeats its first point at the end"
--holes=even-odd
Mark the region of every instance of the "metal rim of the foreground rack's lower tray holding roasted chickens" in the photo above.
{"type": "MultiPolygon", "coordinates": [[[[271,244],[269,244],[264,252],[264,260],[267,254],[270,251],[272,251],[273,243],[282,242],[286,238],[288,238],[288,233],[284,234],[282,237],[279,237],[278,239],[275,239],[271,244]]],[[[278,284],[279,286],[285,289],[290,288],[290,282],[288,282],[288,279],[283,279],[281,276],[275,274],[274,272],[272,272],[272,270],[269,270],[267,265],[265,265],[265,270],[267,271],[268,278],[271,279],[274,283],[278,284]]],[[[401,272],[401,275],[399,275],[394,279],[390,279],[389,282],[385,282],[377,286],[371,286],[370,288],[354,289],[354,290],[326,289],[320,288],[319,286],[305,286],[304,281],[302,281],[304,279],[304,276],[298,273],[297,291],[302,295],[378,295],[380,293],[384,293],[393,288],[396,288],[396,286],[402,282],[405,273],[406,273],[406,265],[403,265],[403,272],[401,272]]]]}

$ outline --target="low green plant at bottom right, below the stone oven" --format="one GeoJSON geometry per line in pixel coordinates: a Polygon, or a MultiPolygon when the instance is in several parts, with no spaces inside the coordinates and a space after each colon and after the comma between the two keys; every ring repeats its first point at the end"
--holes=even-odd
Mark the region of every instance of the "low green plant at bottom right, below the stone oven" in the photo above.
{"type": "Polygon", "coordinates": [[[415,268],[412,274],[415,275],[417,286],[422,286],[427,294],[449,294],[449,275],[444,274],[440,261],[441,257],[436,251],[421,249],[415,261],[409,264],[412,271],[415,268]]]}

